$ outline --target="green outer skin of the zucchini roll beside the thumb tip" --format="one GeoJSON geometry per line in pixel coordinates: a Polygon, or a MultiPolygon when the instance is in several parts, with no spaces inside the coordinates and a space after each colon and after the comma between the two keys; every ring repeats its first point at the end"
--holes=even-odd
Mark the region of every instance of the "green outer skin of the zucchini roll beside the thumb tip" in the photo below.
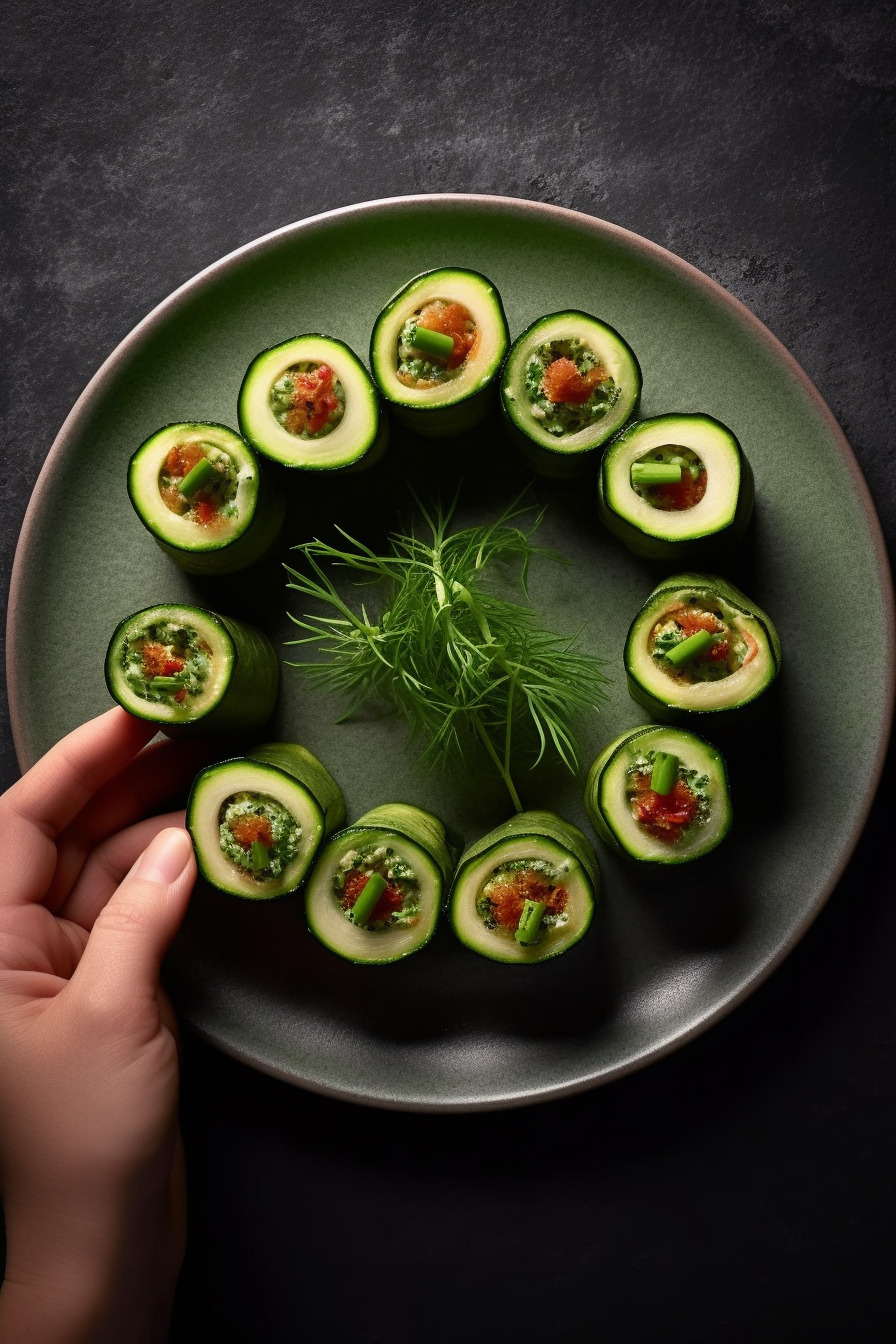
{"type": "Polygon", "coordinates": [[[206,766],[204,770],[200,770],[193,780],[189,797],[187,800],[185,825],[193,841],[196,866],[210,886],[212,886],[216,891],[224,892],[224,895],[236,896],[239,900],[269,902],[278,900],[281,896],[292,895],[302,886],[321,844],[326,836],[341,824],[344,817],[345,804],[343,801],[343,792],[317,757],[313,755],[306,747],[294,742],[270,742],[253,747],[251,751],[247,751],[242,757],[231,757],[227,761],[219,761],[216,765],[206,766]],[[300,789],[308,796],[308,800],[312,804],[312,810],[317,817],[317,825],[320,827],[317,840],[309,847],[308,853],[304,856],[305,862],[301,871],[296,874],[294,880],[292,880],[289,886],[283,886],[281,890],[259,888],[258,894],[240,890],[235,884],[222,886],[222,883],[215,878],[208,863],[206,862],[204,847],[201,843],[201,817],[199,816],[204,786],[208,781],[226,767],[230,769],[232,766],[250,763],[262,765],[267,770],[285,775],[289,781],[298,785],[300,789]]]}

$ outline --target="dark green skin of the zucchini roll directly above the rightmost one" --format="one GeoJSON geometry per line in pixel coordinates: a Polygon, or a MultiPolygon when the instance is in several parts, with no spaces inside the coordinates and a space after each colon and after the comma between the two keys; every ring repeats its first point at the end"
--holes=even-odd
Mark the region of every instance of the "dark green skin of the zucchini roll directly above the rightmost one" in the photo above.
{"type": "MultiPolygon", "coordinates": [[[[699,563],[711,555],[721,555],[732,551],[744,538],[747,528],[750,526],[750,519],[752,517],[754,501],[755,501],[755,481],[752,466],[750,460],[744,453],[739,438],[733,434],[727,425],[721,421],[716,421],[713,415],[695,415],[695,419],[712,421],[719,425],[733,441],[737,452],[737,460],[740,462],[740,485],[737,491],[737,505],[735,509],[735,516],[727,527],[717,528],[716,531],[707,532],[703,536],[689,536],[681,539],[650,536],[643,532],[629,519],[621,517],[607,503],[607,473],[613,466],[613,457],[617,448],[626,444],[633,431],[635,431],[641,423],[656,423],[656,421],[665,419],[666,417],[657,415],[652,421],[642,421],[637,423],[629,423],[614,438],[607,446],[607,452],[600,462],[600,473],[598,476],[598,513],[600,521],[609,532],[618,538],[623,546],[626,546],[633,555],[638,555],[645,560],[666,560],[669,563],[699,563]]],[[[668,417],[669,419],[688,419],[688,415],[674,415],[668,417]]],[[[689,445],[684,445],[685,448],[689,445]]]]}

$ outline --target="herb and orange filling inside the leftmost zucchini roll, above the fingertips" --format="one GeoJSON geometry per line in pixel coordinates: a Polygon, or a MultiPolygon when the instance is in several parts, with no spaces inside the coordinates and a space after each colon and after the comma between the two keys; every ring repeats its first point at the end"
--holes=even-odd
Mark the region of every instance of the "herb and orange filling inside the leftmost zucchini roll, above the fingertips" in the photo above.
{"type": "Polygon", "coordinates": [[[211,657],[211,646],[192,626],[159,621],[125,640],[121,669],[141,700],[188,708],[206,689],[211,657]]]}

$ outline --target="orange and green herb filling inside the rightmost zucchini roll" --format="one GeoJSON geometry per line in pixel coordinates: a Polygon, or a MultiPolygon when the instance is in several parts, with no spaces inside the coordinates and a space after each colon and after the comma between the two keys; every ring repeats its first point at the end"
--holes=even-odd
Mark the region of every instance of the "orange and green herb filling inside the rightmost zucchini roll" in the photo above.
{"type": "Polygon", "coordinates": [[[721,681],[759,652],[754,637],[699,597],[676,602],[654,624],[650,656],[680,685],[721,681]]]}

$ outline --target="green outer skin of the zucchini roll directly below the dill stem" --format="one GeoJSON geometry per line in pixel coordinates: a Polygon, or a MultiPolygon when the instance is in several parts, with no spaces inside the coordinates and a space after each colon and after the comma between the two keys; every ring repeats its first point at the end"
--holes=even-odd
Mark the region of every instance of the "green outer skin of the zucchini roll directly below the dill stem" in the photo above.
{"type": "Polygon", "coordinates": [[[582,831],[579,831],[578,827],[574,827],[570,821],[566,821],[563,817],[559,817],[555,812],[520,812],[508,821],[502,823],[502,825],[489,831],[488,835],[482,836],[461,855],[450,895],[451,927],[454,929],[458,939],[469,948],[470,952],[476,952],[481,957],[488,957],[489,960],[498,961],[502,965],[539,965],[544,961],[551,961],[553,957],[563,956],[564,952],[568,952],[570,948],[574,948],[584,937],[591,927],[594,907],[599,895],[600,870],[598,868],[594,848],[582,831]],[[559,948],[553,948],[551,950],[545,949],[541,956],[531,954],[525,958],[502,956],[500,939],[496,939],[494,950],[486,950],[484,946],[474,945],[459,929],[459,917],[462,914],[461,903],[467,899],[465,883],[470,875],[470,870],[473,870],[481,859],[488,856],[493,856],[494,864],[497,866],[501,862],[502,849],[508,843],[516,840],[547,840],[557,849],[570,853],[579,864],[588,887],[587,910],[582,925],[575,933],[575,937],[570,938],[559,948]]]}

